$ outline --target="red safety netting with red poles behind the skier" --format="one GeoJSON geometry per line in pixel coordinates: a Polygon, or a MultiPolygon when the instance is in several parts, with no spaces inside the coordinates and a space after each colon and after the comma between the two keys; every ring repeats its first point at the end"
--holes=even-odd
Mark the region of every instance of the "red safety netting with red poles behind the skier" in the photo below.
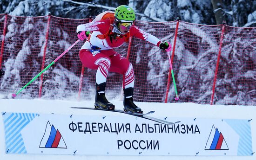
{"type": "MultiPolygon", "coordinates": [[[[76,27],[90,19],[0,14],[0,95],[11,98],[76,40],[76,27]]],[[[179,102],[256,105],[256,27],[206,26],[135,21],[162,41],[169,41],[179,102]],[[175,32],[176,31],[176,32],[175,32]]],[[[17,98],[94,99],[96,70],[83,68],[79,42],[17,98]]],[[[137,102],[175,102],[166,51],[138,38],[115,49],[135,70],[137,102]]],[[[106,96],[120,98],[122,76],[108,74],[106,96]]]]}

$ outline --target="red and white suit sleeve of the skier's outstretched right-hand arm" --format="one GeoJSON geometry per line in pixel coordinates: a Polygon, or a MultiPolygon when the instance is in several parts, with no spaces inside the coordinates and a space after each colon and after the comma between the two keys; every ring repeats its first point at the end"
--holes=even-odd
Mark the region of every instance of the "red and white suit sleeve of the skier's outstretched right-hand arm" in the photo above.
{"type": "Polygon", "coordinates": [[[156,46],[159,46],[160,43],[162,42],[160,39],[156,38],[155,36],[153,36],[152,34],[149,34],[143,30],[141,30],[139,27],[137,26],[133,26],[130,30],[131,35],[136,37],[136,38],[140,38],[142,40],[148,41],[149,43],[152,43],[156,46]]]}

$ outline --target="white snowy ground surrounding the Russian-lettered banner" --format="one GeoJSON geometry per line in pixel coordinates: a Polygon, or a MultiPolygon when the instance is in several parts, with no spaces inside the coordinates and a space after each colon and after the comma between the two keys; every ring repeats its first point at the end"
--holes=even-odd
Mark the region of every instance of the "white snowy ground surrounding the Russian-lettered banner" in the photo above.
{"type": "MultiPolygon", "coordinates": [[[[117,109],[122,109],[122,101],[111,101],[117,109]]],[[[251,122],[252,135],[256,135],[256,107],[255,106],[222,106],[222,105],[200,105],[195,103],[146,103],[136,102],[144,112],[155,110],[152,116],[162,117],[200,117],[200,118],[226,118],[226,119],[253,119],[251,122]]],[[[16,100],[0,99],[1,112],[27,112],[40,114],[75,114],[99,115],[98,112],[70,109],[71,106],[93,107],[94,102],[77,101],[46,101],[46,100],[16,100]]],[[[113,114],[112,112],[104,114],[113,114]]],[[[124,115],[125,116],[125,115],[124,115]]],[[[254,156],[79,156],[79,155],[37,155],[37,154],[5,154],[3,122],[0,121],[0,160],[255,160],[254,156]]],[[[256,137],[252,137],[253,152],[256,151],[256,137]]],[[[99,148],[100,149],[100,148],[99,148]]]]}

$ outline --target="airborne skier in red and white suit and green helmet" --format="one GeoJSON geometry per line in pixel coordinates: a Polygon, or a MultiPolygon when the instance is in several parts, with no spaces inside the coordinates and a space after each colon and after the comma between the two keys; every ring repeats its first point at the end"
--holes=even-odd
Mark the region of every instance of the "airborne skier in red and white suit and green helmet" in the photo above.
{"type": "MultiPolygon", "coordinates": [[[[101,13],[103,14],[103,13],[101,13]]],[[[102,17],[110,14],[104,13],[102,17]]],[[[132,64],[113,48],[120,47],[128,38],[135,36],[154,45],[170,50],[169,42],[162,42],[155,36],[144,32],[134,25],[135,12],[125,5],[118,6],[113,12],[113,18],[100,20],[77,26],[77,37],[86,40],[81,47],[79,56],[82,64],[96,71],[95,108],[115,109],[115,105],[108,102],[105,96],[105,87],[108,72],[117,72],[123,75],[124,111],[142,113],[141,109],[133,102],[135,75],[132,64]],[[89,31],[89,32],[88,32],[89,31]]]]}

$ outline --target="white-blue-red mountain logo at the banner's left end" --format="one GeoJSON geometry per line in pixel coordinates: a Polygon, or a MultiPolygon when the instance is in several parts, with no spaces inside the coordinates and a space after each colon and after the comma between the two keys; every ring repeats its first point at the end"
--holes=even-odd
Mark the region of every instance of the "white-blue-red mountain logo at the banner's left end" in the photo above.
{"type": "Polygon", "coordinates": [[[63,140],[60,131],[54,128],[50,122],[47,122],[45,133],[40,142],[40,148],[67,148],[65,141],[63,140]]]}

